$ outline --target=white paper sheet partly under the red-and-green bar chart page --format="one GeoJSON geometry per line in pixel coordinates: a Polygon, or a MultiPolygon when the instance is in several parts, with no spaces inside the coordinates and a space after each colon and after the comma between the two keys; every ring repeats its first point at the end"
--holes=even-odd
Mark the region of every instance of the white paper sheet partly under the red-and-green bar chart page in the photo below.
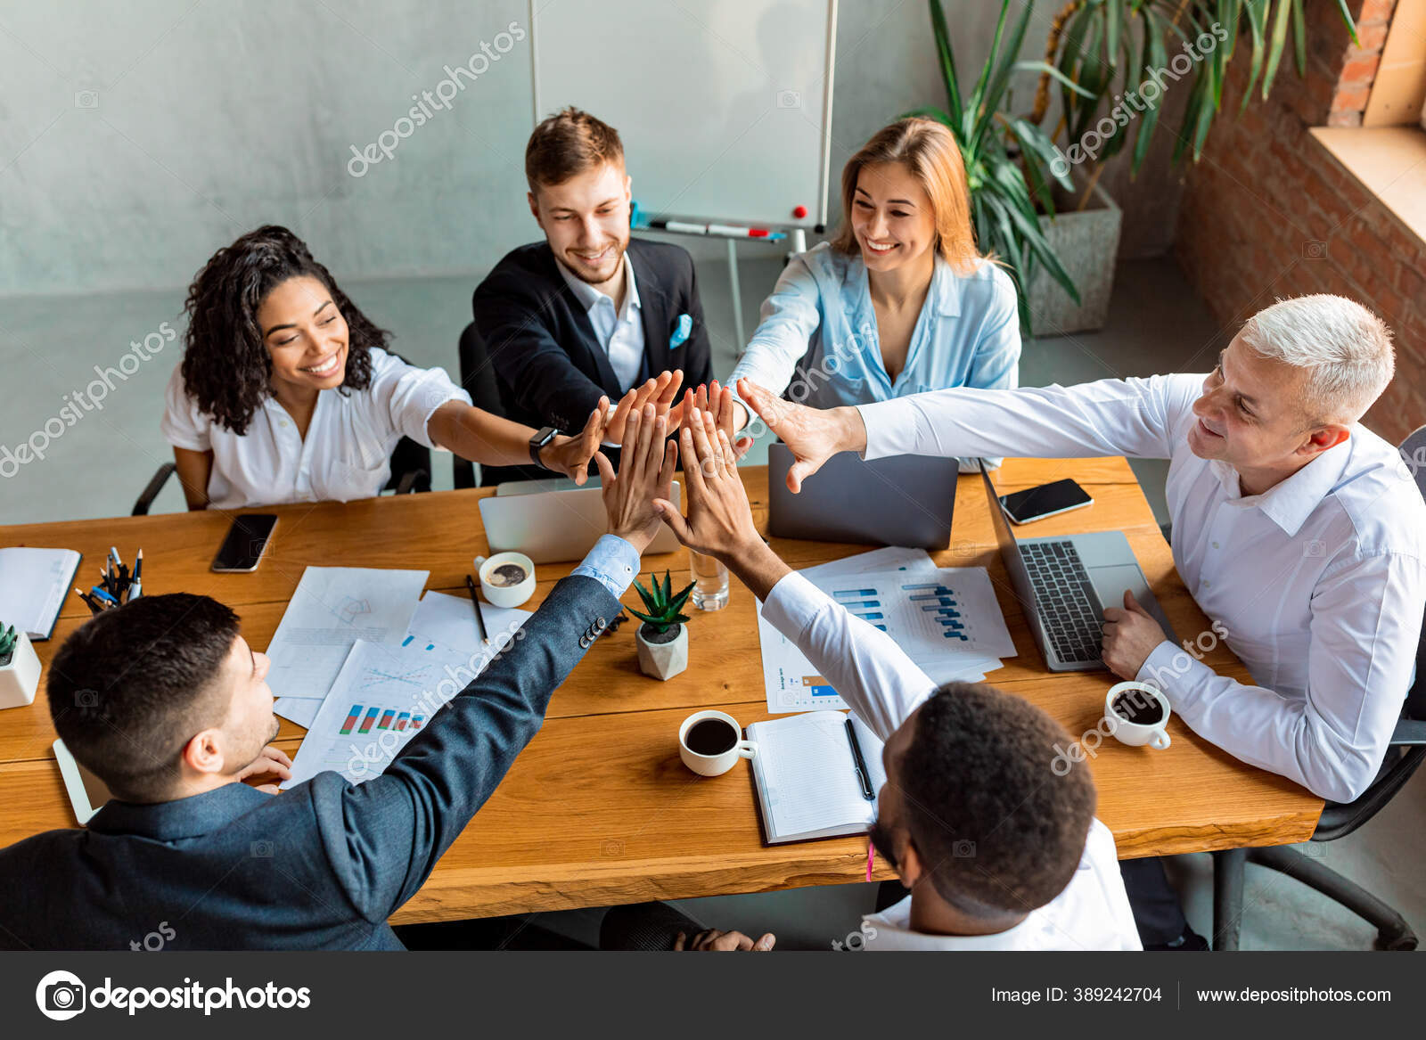
{"type": "Polygon", "coordinates": [[[399,643],[421,601],[429,571],[309,566],[302,572],[267,655],[268,686],[281,698],[318,703],[332,688],[358,639],[399,643]]]}

